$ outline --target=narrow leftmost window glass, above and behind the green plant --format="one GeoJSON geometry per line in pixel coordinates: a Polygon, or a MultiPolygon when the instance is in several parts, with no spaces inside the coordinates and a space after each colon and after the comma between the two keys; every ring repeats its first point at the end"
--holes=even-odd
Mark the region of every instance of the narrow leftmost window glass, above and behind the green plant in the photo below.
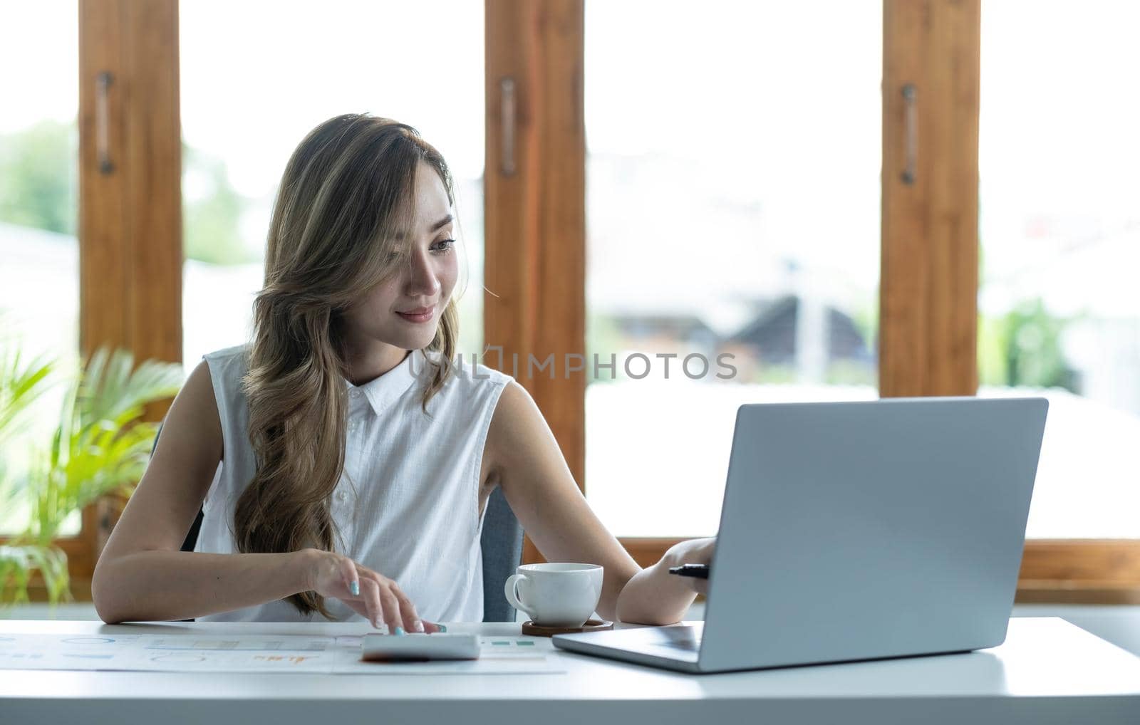
{"type": "MultiPolygon", "coordinates": [[[[75,0],[0,7],[0,345],[24,360],[47,356],[73,372],[79,358],[79,9],[75,0]]],[[[63,377],[60,375],[59,377],[63,377]]],[[[57,378],[58,380],[58,378],[57,378]]],[[[3,447],[8,486],[28,476],[28,446],[44,449],[64,385],[39,399],[3,447]]],[[[9,489],[11,490],[11,489],[9,489]]],[[[17,499],[0,507],[0,536],[27,523],[17,499]]],[[[76,533],[79,516],[60,531],[76,533]]]]}

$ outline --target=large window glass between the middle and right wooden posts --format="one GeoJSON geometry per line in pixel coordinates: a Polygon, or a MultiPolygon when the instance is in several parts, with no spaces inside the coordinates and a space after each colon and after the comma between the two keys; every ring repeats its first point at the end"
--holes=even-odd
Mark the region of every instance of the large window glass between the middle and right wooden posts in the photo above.
{"type": "Polygon", "coordinates": [[[716,531],[740,404],[878,389],[881,3],[693,8],[586,3],[586,496],[619,536],[716,531]]]}

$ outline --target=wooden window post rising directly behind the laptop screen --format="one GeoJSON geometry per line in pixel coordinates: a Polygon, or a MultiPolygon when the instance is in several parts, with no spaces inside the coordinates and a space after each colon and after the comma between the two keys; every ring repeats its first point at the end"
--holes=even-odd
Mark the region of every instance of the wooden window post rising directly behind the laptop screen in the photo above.
{"type": "Polygon", "coordinates": [[[879,392],[977,391],[979,0],[886,0],[879,392]]]}

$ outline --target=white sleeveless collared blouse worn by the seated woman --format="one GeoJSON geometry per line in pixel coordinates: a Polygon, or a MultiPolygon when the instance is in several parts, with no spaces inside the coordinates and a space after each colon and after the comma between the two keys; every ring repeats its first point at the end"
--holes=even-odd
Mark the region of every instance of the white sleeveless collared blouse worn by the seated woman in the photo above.
{"type": "MultiPolygon", "coordinates": [[[[241,390],[249,345],[205,355],[221,419],[225,453],[204,504],[196,552],[230,554],[234,506],[254,474],[249,407],[241,390]]],[[[439,360],[440,353],[433,352],[439,360]]],[[[344,473],[331,502],[335,549],[393,579],[430,621],[481,621],[479,472],[491,415],[511,376],[470,364],[427,402],[429,365],[413,351],[404,362],[349,391],[344,473]]],[[[339,621],[364,621],[326,600],[339,621]]],[[[202,617],[227,621],[324,620],[302,617],[285,600],[202,617]]]]}

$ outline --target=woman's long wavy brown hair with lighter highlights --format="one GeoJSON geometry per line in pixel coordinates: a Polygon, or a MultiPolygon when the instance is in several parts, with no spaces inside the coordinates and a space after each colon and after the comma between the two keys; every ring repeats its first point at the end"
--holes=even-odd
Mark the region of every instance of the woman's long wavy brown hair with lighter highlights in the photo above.
{"type": "MultiPolygon", "coordinates": [[[[342,312],[399,270],[398,244],[415,218],[421,162],[439,173],[448,201],[454,182],[443,157],[418,131],[391,119],[348,114],[325,121],[293,152],[269,225],[264,287],[243,390],[256,472],[234,511],[243,553],[336,551],[329,497],[344,469],[348,374],[342,312]]],[[[451,374],[458,316],[440,316],[421,372],[422,407],[451,374]]],[[[324,597],[287,600],[301,614],[333,619],[324,597]]]]}

